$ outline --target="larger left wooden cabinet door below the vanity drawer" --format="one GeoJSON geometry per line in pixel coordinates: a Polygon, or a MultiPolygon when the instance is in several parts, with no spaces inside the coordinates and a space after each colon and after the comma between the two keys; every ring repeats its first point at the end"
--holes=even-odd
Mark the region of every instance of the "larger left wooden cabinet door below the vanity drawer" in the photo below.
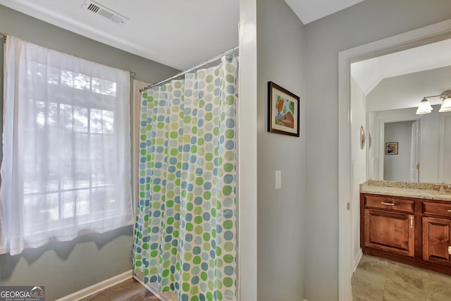
{"type": "Polygon", "coordinates": [[[377,209],[365,209],[364,215],[365,247],[414,257],[414,215],[377,209]]]}

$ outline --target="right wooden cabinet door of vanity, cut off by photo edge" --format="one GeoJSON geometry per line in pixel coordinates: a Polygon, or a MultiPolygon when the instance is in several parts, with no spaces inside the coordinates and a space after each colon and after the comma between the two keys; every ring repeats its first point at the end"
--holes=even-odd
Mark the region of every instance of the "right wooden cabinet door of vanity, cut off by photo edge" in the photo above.
{"type": "Polygon", "coordinates": [[[451,221],[435,217],[423,217],[423,259],[436,264],[451,266],[451,221]]]}

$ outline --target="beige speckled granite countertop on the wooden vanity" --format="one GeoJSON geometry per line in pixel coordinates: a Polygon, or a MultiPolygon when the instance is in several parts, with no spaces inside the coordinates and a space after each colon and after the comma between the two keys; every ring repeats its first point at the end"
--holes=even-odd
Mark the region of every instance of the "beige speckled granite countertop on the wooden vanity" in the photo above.
{"type": "Polygon", "coordinates": [[[411,183],[368,180],[360,184],[360,192],[395,197],[418,197],[451,202],[451,184],[411,183]]]}

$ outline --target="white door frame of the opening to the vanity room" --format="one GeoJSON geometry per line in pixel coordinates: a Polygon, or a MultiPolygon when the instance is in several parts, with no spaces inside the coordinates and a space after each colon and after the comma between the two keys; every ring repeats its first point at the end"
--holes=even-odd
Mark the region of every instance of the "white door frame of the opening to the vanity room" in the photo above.
{"type": "Polygon", "coordinates": [[[338,53],[338,174],[340,175],[338,177],[338,300],[352,300],[351,277],[354,273],[353,252],[350,250],[352,228],[349,210],[353,184],[350,145],[350,64],[448,39],[450,33],[451,20],[445,20],[338,53]]]}

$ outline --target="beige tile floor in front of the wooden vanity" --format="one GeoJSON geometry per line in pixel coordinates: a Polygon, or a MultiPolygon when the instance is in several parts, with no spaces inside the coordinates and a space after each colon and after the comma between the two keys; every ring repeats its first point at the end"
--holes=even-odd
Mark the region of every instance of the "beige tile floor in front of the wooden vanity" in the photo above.
{"type": "Polygon", "coordinates": [[[351,283],[353,301],[451,300],[451,276],[365,254],[351,283]]]}

